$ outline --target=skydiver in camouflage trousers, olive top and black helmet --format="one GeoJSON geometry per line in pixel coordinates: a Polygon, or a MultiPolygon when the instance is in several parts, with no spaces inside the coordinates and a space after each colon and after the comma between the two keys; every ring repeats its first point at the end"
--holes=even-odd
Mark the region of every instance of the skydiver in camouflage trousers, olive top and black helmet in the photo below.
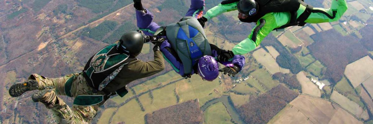
{"type": "Polygon", "coordinates": [[[128,93],[128,83],[164,69],[159,48],[163,41],[164,38],[150,38],[142,31],[126,32],[119,41],[95,53],[81,73],[54,79],[31,74],[28,80],[13,84],[9,94],[18,97],[26,91],[38,89],[32,95],[32,101],[41,102],[51,109],[59,124],[88,124],[110,96],[118,94],[123,97],[128,93]],[[136,58],[144,42],[155,44],[153,61],[136,58]],[[75,98],[72,109],[57,95],[75,98]]]}

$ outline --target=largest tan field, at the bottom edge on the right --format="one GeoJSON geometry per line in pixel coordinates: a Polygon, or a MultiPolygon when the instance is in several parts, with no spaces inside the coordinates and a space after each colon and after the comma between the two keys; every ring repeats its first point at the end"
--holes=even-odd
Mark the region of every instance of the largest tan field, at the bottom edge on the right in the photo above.
{"type": "Polygon", "coordinates": [[[350,113],[331,102],[299,95],[269,124],[363,124],[350,113]]]}

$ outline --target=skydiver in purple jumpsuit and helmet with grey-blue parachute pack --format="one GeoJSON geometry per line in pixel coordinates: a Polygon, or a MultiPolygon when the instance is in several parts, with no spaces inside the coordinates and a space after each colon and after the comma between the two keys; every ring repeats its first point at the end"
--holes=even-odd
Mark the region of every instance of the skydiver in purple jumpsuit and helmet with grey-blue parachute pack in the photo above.
{"type": "Polygon", "coordinates": [[[233,55],[232,51],[221,50],[207,41],[197,20],[203,14],[204,0],[191,0],[191,7],[184,18],[163,27],[153,22],[152,13],[142,7],[141,0],[134,0],[134,7],[137,26],[145,34],[167,38],[160,47],[161,51],[182,77],[199,74],[203,80],[212,81],[219,76],[219,71],[234,77],[244,66],[244,56],[233,55]],[[219,70],[217,61],[225,67],[219,70]]]}

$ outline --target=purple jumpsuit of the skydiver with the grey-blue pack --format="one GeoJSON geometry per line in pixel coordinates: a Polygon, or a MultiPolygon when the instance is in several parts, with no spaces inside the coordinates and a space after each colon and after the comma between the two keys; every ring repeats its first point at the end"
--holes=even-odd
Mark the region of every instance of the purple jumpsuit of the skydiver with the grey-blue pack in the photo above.
{"type": "MultiPolygon", "coordinates": [[[[191,0],[191,7],[189,8],[188,12],[186,12],[185,16],[193,16],[194,18],[201,18],[203,15],[203,8],[204,8],[204,0],[191,0]]],[[[153,15],[149,10],[145,9],[145,13],[143,11],[136,10],[136,19],[137,19],[137,26],[144,31],[146,35],[153,35],[155,31],[157,31],[160,26],[153,22],[153,15]]],[[[217,57],[218,53],[222,51],[218,47],[213,44],[210,44],[212,50],[212,56],[217,57]]],[[[166,58],[166,60],[171,64],[173,69],[180,74],[181,76],[185,76],[184,74],[184,66],[176,52],[172,50],[170,43],[166,39],[161,45],[161,51],[166,58]]],[[[242,55],[234,55],[232,61],[219,61],[224,65],[226,64],[234,64],[239,67],[239,70],[245,65],[245,57],[242,55]]],[[[193,68],[193,67],[192,67],[193,68]]],[[[192,73],[197,72],[197,70],[192,69],[192,73]]]]}

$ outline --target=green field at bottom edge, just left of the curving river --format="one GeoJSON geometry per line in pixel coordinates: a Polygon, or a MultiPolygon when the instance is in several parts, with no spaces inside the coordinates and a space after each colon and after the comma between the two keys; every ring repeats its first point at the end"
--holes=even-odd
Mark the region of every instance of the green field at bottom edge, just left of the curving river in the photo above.
{"type": "Polygon", "coordinates": [[[231,116],[222,102],[209,106],[204,112],[205,124],[233,124],[231,116]]]}

